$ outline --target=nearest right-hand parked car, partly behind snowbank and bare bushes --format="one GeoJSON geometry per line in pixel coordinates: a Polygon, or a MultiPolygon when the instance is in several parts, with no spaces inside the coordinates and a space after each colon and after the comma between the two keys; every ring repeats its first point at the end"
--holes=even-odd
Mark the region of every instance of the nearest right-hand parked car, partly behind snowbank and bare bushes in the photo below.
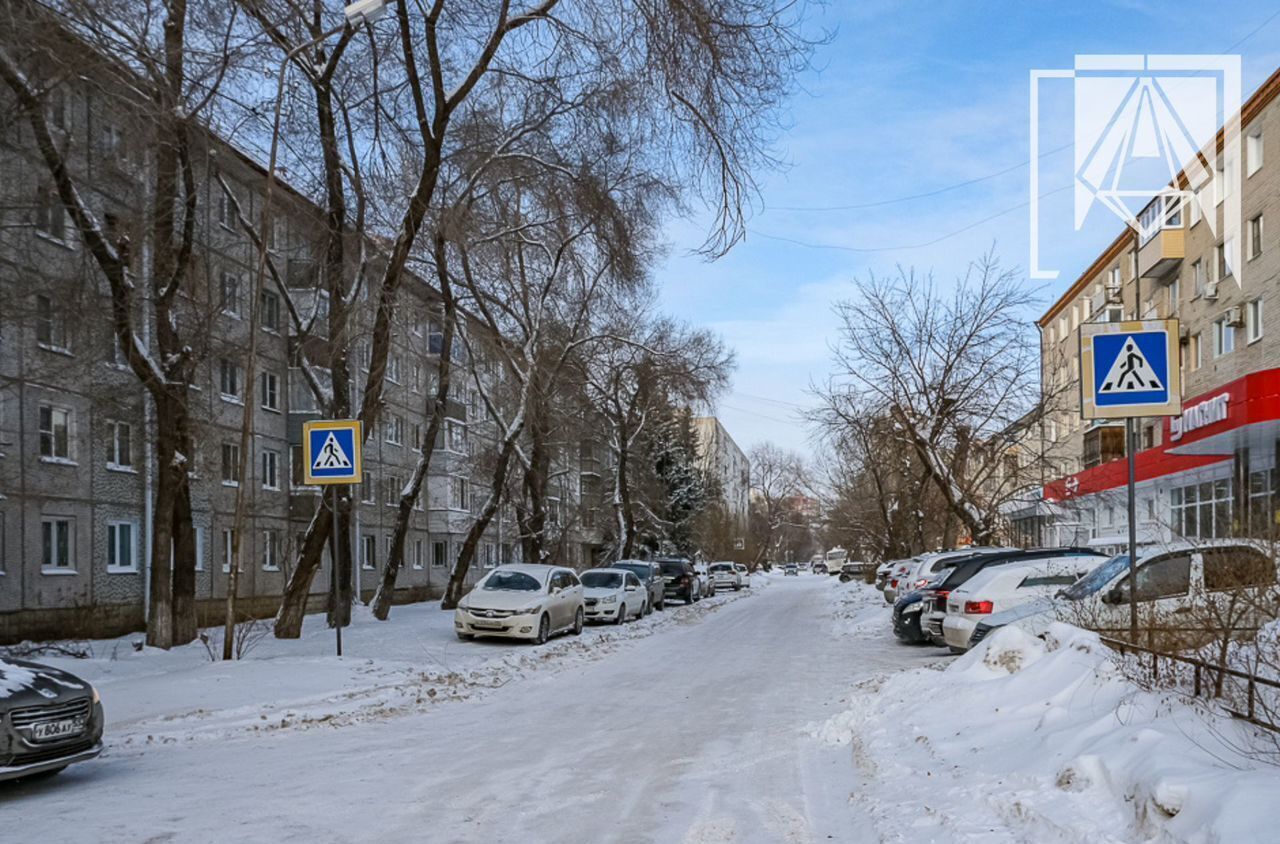
{"type": "MultiPolygon", "coordinates": [[[[1199,539],[1142,549],[1137,569],[1140,619],[1194,610],[1226,589],[1276,585],[1276,561],[1268,548],[1247,539],[1199,539]]],[[[977,624],[969,647],[1005,625],[1041,634],[1060,619],[1112,635],[1128,631],[1129,555],[1106,560],[1052,597],[993,612],[977,624]]]]}

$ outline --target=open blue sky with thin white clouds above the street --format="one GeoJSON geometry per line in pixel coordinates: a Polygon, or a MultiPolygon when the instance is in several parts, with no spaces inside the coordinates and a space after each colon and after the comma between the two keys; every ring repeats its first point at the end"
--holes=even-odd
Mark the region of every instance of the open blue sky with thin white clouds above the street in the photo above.
{"type": "MultiPolygon", "coordinates": [[[[851,279],[897,265],[952,279],[993,245],[1025,270],[1032,69],[1070,68],[1076,54],[1230,51],[1242,55],[1248,96],[1280,67],[1280,3],[832,0],[813,23],[835,37],[788,104],[776,143],[786,166],[760,179],[763,209],[746,241],[705,263],[689,254],[705,220],[677,220],[657,270],[662,305],[737,355],[717,414],[742,448],[768,439],[812,451],[796,414],[829,370],[831,305],[851,279]]],[[[1051,149],[1047,136],[1069,142],[1070,128],[1042,126],[1051,149]]],[[[1069,151],[1041,166],[1041,193],[1070,184],[1069,151]]],[[[1070,197],[1046,200],[1048,213],[1066,214],[1070,197]]],[[[1046,305],[1120,225],[1094,215],[1055,241],[1042,263],[1061,275],[1037,283],[1046,305]]]]}

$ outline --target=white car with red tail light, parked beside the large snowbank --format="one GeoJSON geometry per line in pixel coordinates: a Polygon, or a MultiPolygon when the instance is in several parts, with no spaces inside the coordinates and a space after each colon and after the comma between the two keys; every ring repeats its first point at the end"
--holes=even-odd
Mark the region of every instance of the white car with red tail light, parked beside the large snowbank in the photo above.
{"type": "Polygon", "coordinates": [[[974,628],[998,610],[1047,598],[1083,578],[1091,557],[1050,557],[1034,562],[989,566],[947,596],[942,638],[955,653],[969,649],[974,628]]]}

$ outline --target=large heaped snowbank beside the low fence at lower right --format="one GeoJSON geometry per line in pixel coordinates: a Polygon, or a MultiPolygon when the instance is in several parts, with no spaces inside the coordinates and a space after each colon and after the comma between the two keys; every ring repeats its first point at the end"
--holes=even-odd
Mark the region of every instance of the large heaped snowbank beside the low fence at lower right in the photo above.
{"type": "MultiPolygon", "coordinates": [[[[1092,633],[1004,628],[946,670],[860,684],[810,729],[849,744],[851,795],[915,840],[1261,841],[1280,768],[1207,706],[1130,683],[1092,633]]],[[[1272,745],[1274,747],[1274,745],[1272,745]]]]}

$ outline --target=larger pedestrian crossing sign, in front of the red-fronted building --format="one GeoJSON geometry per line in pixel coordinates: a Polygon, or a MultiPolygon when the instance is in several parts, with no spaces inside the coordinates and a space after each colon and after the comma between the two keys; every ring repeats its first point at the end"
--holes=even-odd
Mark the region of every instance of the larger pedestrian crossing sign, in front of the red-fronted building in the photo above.
{"type": "Polygon", "coordinates": [[[1080,414],[1085,419],[1181,412],[1178,320],[1080,325],[1080,414]]]}

